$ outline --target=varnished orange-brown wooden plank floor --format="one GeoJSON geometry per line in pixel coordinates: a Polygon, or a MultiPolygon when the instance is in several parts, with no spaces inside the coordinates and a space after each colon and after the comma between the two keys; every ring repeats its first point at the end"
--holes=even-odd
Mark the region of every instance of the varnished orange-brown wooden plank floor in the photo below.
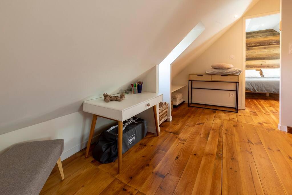
{"type": "Polygon", "coordinates": [[[292,194],[292,134],[277,130],[279,96],[247,94],[239,113],[173,109],[160,137],[147,136],[117,162],[82,150],[54,169],[41,194],[292,194]],[[252,97],[253,96],[253,97],[252,97]]]}

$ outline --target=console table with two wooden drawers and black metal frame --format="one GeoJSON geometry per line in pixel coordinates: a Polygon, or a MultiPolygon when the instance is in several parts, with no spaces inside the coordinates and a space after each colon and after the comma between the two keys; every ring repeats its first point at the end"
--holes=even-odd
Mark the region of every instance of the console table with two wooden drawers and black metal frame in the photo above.
{"type": "MultiPolygon", "coordinates": [[[[229,107],[229,106],[220,106],[220,107],[234,108],[235,111],[229,111],[229,110],[217,109],[217,108],[206,108],[206,109],[238,113],[238,86],[239,86],[239,75],[209,75],[209,74],[200,74],[200,73],[189,74],[188,106],[196,107],[196,108],[205,108],[205,107],[192,105],[192,90],[193,89],[233,91],[236,93],[235,107],[229,107]],[[232,90],[232,89],[214,89],[211,87],[210,88],[200,88],[200,87],[195,87],[193,84],[193,81],[234,83],[236,85],[236,89],[235,90],[232,90]],[[190,95],[190,93],[191,93],[191,95],[190,95]]],[[[218,105],[210,105],[210,104],[203,104],[203,103],[197,103],[197,104],[207,105],[207,106],[218,106],[218,105]]]]}

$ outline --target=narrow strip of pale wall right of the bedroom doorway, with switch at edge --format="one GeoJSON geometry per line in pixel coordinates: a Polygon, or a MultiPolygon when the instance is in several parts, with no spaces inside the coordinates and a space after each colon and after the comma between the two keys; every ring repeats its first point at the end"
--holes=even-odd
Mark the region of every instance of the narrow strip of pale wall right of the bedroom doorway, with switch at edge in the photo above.
{"type": "Polygon", "coordinates": [[[281,36],[281,82],[280,82],[280,121],[279,129],[286,131],[286,126],[292,126],[292,54],[289,54],[289,44],[292,44],[291,0],[281,0],[282,31],[281,36]]]}

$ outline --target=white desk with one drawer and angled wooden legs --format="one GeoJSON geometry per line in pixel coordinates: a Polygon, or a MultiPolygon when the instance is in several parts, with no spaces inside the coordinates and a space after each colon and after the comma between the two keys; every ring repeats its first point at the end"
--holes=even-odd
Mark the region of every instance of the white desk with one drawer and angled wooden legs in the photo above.
{"type": "Polygon", "coordinates": [[[162,94],[142,92],[141,94],[126,94],[126,98],[119,101],[105,102],[102,98],[84,101],[83,111],[92,113],[92,123],[89,133],[86,154],[88,157],[91,139],[93,137],[97,117],[118,121],[118,173],[122,168],[122,129],[123,121],[153,107],[156,133],[159,136],[156,104],[162,101],[162,94]]]}

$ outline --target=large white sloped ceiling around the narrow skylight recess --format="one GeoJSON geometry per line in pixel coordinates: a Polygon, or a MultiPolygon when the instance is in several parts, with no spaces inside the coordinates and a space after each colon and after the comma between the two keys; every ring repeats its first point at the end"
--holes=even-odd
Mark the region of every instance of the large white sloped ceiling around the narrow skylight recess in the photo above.
{"type": "Polygon", "coordinates": [[[200,20],[205,33],[185,54],[253,2],[0,1],[0,134],[117,92],[159,64],[200,20]]]}

